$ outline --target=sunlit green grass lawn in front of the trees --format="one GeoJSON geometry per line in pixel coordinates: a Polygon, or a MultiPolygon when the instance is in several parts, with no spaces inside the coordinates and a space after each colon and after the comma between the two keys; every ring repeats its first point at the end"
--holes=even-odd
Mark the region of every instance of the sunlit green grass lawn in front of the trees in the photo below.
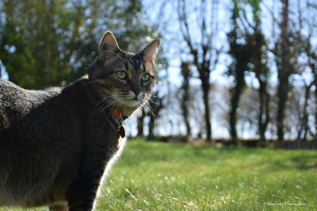
{"type": "Polygon", "coordinates": [[[317,151],[129,141],[97,207],[317,211],[317,151]]]}

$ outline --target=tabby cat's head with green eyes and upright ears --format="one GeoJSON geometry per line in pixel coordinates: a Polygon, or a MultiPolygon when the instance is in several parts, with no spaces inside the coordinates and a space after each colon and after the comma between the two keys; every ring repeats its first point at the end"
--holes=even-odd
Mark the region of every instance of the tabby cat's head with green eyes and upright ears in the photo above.
{"type": "Polygon", "coordinates": [[[154,59],[160,40],[155,39],[140,53],[122,51],[111,32],[106,32],[93,68],[88,69],[94,92],[110,108],[131,116],[151,97],[155,85],[154,59]]]}

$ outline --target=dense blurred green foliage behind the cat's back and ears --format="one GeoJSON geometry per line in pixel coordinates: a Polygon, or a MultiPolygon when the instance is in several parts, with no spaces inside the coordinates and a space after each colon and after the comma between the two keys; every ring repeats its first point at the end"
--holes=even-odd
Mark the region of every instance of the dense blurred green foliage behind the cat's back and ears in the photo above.
{"type": "Polygon", "coordinates": [[[105,31],[122,50],[134,52],[159,37],[141,9],[139,0],[6,0],[0,5],[0,59],[21,87],[63,86],[85,74],[105,31]]]}

